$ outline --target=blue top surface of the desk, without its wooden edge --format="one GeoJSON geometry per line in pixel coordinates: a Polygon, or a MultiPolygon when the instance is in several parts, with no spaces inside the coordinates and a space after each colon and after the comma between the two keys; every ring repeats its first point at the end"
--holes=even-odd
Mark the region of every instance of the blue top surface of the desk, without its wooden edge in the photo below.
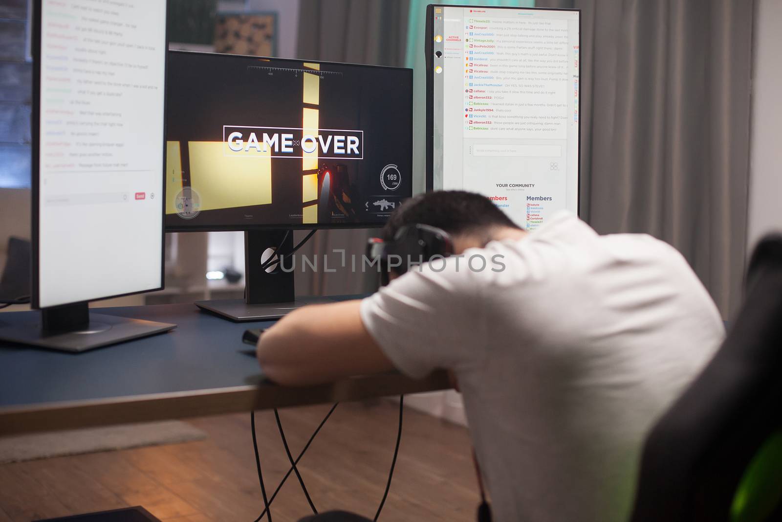
{"type": "MultiPolygon", "coordinates": [[[[258,383],[242,333],[273,322],[231,322],[192,304],[92,308],[106,315],[173,322],[167,333],[81,354],[0,342],[0,407],[258,383]]],[[[37,322],[37,311],[0,314],[0,326],[37,322]]]]}

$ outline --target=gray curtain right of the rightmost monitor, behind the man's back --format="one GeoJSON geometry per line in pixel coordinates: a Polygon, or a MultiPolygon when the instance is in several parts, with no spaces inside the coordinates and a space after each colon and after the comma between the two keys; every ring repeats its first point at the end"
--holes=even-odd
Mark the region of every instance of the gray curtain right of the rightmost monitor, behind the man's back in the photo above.
{"type": "Polygon", "coordinates": [[[676,247],[723,317],[741,301],[753,0],[538,0],[583,9],[581,216],[676,247]]]}

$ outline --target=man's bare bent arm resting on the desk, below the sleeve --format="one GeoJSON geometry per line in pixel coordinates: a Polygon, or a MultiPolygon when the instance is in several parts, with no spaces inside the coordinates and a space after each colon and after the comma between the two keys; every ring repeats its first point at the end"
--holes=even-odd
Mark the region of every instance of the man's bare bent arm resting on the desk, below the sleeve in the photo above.
{"type": "Polygon", "coordinates": [[[302,386],[393,369],[364,328],[360,305],[359,300],[314,304],[285,315],[258,340],[264,375],[302,386]]]}

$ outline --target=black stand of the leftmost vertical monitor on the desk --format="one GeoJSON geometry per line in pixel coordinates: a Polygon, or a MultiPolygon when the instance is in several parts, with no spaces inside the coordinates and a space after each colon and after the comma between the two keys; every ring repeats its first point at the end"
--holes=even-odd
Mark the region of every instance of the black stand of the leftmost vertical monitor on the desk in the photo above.
{"type": "Polygon", "coordinates": [[[87,303],[41,309],[41,322],[0,328],[0,340],[59,351],[87,351],[167,332],[167,322],[91,314],[87,303]]]}

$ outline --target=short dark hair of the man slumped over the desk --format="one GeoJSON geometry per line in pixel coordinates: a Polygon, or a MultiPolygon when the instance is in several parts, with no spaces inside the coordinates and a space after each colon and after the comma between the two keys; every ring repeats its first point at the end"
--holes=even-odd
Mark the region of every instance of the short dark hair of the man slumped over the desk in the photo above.
{"type": "Polygon", "coordinates": [[[485,233],[497,226],[519,228],[492,200],[464,190],[439,190],[405,201],[383,227],[383,239],[393,239],[401,227],[414,223],[443,229],[451,236],[485,233]]]}

